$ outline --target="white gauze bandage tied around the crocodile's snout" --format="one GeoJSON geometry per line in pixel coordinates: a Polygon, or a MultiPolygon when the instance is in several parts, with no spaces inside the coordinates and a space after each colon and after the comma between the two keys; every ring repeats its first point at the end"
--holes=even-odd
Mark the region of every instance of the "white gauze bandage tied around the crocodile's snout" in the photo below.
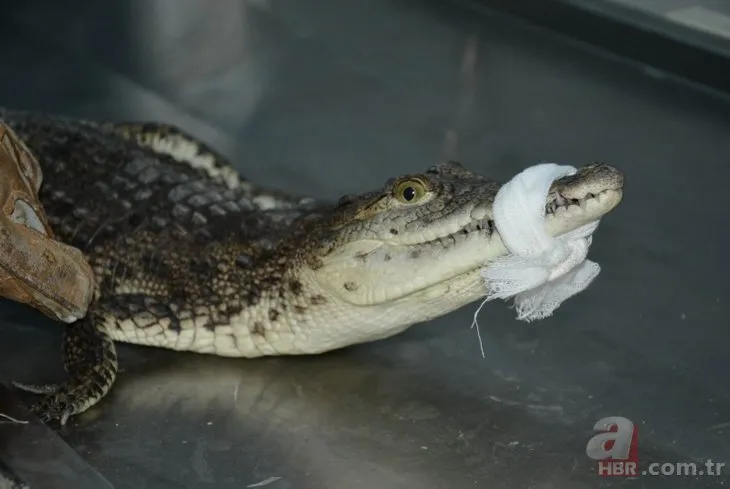
{"type": "Polygon", "coordinates": [[[485,302],[514,297],[517,319],[542,319],[596,278],[601,267],[586,256],[598,220],[558,237],[545,231],[550,186],[576,171],[572,166],[540,164],[499,190],[493,205],[494,225],[510,254],[481,271],[489,289],[485,302]]]}

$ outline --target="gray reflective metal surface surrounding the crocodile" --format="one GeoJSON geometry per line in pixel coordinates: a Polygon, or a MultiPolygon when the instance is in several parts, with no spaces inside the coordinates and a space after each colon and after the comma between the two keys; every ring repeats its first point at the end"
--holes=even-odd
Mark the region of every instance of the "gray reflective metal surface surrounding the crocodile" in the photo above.
{"type": "MultiPolygon", "coordinates": [[[[501,180],[545,160],[627,174],[598,280],[537,323],[486,307],[484,359],[476,304],[317,357],[121,346],[113,394],[60,431],[115,487],[727,481],[600,478],[585,454],[620,415],[642,465],[730,462],[726,101],[448,2],[35,0],[0,27],[0,103],[173,122],[284,189],[336,198],[445,157],[501,180]]],[[[0,380],[60,379],[61,327],[2,313],[0,380]]]]}

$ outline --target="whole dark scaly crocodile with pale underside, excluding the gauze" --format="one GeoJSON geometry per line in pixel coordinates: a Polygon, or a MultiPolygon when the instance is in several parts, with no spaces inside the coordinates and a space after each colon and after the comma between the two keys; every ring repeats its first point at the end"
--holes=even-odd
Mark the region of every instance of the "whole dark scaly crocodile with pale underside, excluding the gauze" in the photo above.
{"type": "MultiPolygon", "coordinates": [[[[501,184],[456,161],[329,202],[258,186],[174,125],[9,109],[41,164],[57,238],[95,274],[62,340],[60,384],[31,409],[60,424],[114,385],[115,342],[226,357],[313,355],[391,337],[484,298],[507,253],[492,219],[501,184]]],[[[623,174],[591,163],[545,203],[557,236],[622,199],[623,174]]]]}

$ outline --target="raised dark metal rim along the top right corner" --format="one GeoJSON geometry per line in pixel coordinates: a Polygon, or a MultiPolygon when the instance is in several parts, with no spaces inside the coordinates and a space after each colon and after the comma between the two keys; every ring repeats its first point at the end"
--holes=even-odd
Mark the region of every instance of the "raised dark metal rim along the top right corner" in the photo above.
{"type": "MultiPolygon", "coordinates": [[[[662,77],[730,93],[730,40],[616,0],[472,0],[662,77]]],[[[697,20],[695,18],[695,20],[697,20]]],[[[722,19],[715,15],[716,22],[722,19]]]]}

